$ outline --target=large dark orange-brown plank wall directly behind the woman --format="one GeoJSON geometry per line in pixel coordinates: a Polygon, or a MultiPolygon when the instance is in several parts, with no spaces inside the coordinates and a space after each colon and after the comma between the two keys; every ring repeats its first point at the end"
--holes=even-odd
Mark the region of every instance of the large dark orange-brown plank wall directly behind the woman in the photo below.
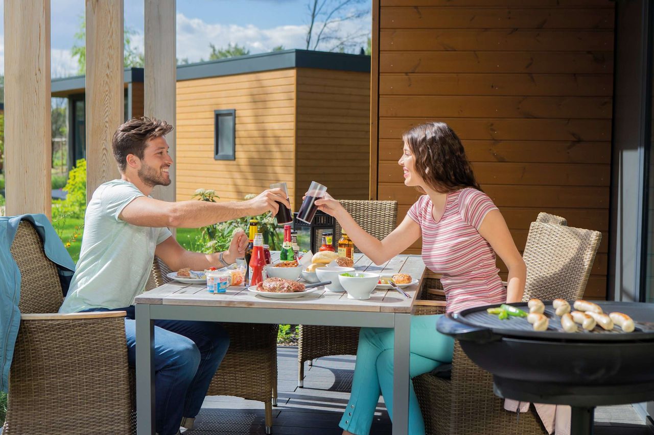
{"type": "MultiPolygon", "coordinates": [[[[445,121],[520,250],[540,211],[602,231],[587,296],[606,297],[613,3],[375,0],[375,8],[377,199],[397,200],[404,218],[419,194],[397,165],[402,133],[445,121]]],[[[409,251],[420,249],[419,240],[409,251]]]]}

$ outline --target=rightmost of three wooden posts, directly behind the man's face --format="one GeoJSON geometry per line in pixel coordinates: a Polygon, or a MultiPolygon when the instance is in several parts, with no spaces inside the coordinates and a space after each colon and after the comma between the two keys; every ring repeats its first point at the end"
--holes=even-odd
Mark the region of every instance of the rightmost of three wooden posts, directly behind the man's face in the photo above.
{"type": "MultiPolygon", "coordinates": [[[[145,0],[145,108],[148,118],[175,125],[175,0],[145,0]]],[[[166,137],[168,153],[175,161],[175,130],[166,137]]],[[[175,201],[175,164],[170,168],[171,184],[157,186],[152,197],[175,201]]]]}

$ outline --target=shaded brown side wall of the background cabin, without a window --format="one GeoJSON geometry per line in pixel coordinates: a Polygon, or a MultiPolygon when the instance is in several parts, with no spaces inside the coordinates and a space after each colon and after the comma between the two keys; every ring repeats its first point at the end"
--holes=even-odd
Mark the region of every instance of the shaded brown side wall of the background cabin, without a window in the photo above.
{"type": "Polygon", "coordinates": [[[297,71],[296,204],[312,181],[336,199],[368,199],[370,74],[297,71]],[[345,115],[341,108],[356,112],[345,115]]]}

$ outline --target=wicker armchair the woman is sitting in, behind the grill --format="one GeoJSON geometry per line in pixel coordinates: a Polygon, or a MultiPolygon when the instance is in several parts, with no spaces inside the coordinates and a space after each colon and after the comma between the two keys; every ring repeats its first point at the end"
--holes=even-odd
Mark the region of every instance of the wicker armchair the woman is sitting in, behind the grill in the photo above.
{"type": "MultiPolygon", "coordinates": [[[[527,279],[523,300],[574,300],[583,296],[602,234],[598,231],[534,222],[523,258],[527,279]]],[[[430,287],[439,287],[432,282],[430,287]]],[[[425,288],[415,314],[442,314],[445,302],[425,288]],[[430,300],[431,299],[431,300],[430,300]]],[[[546,434],[533,410],[504,410],[492,393],[492,376],[474,364],[455,342],[451,379],[427,373],[413,378],[427,434],[546,434]]]]}

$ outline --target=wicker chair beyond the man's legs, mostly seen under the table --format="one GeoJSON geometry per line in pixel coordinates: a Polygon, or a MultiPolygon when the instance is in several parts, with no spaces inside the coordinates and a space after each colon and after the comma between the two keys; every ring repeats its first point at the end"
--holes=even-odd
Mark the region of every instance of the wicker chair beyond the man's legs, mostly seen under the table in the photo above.
{"type": "MultiPolygon", "coordinates": [[[[152,278],[156,286],[169,282],[170,268],[155,257],[152,278]]],[[[230,347],[216,372],[207,396],[236,396],[264,402],[266,433],[273,426],[277,406],[277,329],[279,325],[224,323],[230,347]]]]}

